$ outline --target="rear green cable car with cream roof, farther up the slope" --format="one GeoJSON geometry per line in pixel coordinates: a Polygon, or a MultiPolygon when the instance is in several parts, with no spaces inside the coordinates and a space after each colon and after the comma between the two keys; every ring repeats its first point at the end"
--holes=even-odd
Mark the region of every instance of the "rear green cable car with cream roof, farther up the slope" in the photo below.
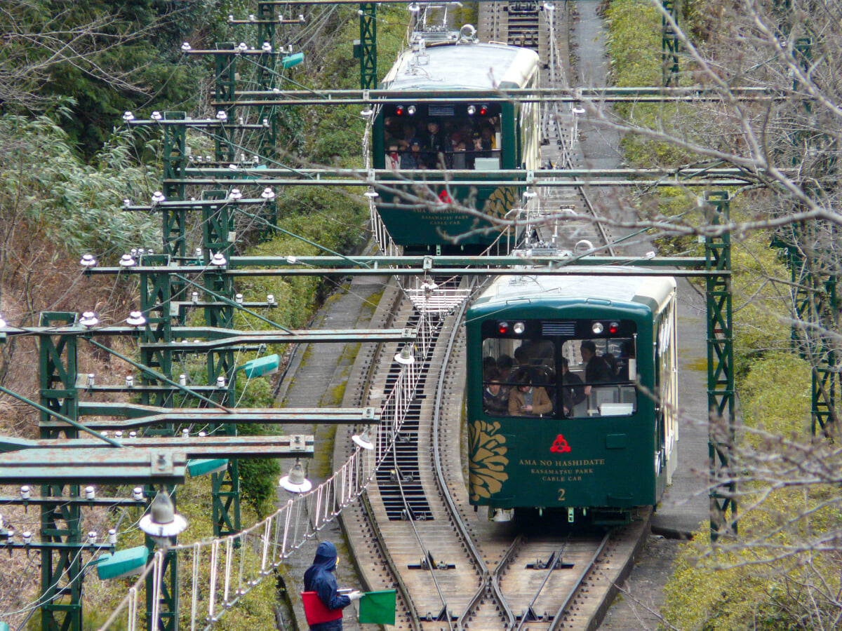
{"type": "Polygon", "coordinates": [[[539,167],[538,104],[489,97],[537,87],[539,67],[533,50],[479,43],[469,25],[417,33],[398,57],[381,88],[407,99],[376,110],[372,164],[394,172],[378,175],[376,208],[404,253],[475,254],[498,239],[486,218],[517,207],[523,187],[498,186],[483,171],[519,169],[525,178],[539,167]],[[424,101],[442,97],[454,100],[424,101]]]}

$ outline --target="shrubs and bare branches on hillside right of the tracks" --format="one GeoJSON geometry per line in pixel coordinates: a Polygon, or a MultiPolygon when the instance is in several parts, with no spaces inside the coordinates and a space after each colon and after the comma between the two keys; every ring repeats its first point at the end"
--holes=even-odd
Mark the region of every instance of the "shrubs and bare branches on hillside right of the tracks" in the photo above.
{"type": "MultiPolygon", "coordinates": [[[[687,56],[683,59],[684,82],[692,82],[694,78],[715,82],[718,77],[711,78],[708,70],[715,67],[723,77],[734,72],[734,85],[757,82],[780,89],[791,88],[794,71],[785,74],[785,66],[780,78],[774,75],[773,62],[778,61],[774,51],[765,56],[765,62],[757,64],[735,56],[741,54],[738,50],[749,50],[753,45],[763,50],[764,38],[769,32],[775,33],[775,21],[791,24],[789,28],[801,36],[815,34],[816,59],[817,50],[827,50],[831,56],[838,50],[832,43],[839,40],[839,16],[835,22],[823,21],[830,18],[825,13],[829,5],[786,3],[786,8],[792,8],[787,14],[784,3],[751,4],[758,10],[757,14],[751,14],[748,4],[742,2],[695,0],[682,5],[684,13],[679,16],[679,24],[690,34],[699,55],[695,61],[687,56]],[[775,13],[777,10],[780,12],[775,13]],[[746,22],[740,21],[743,16],[746,22]],[[756,35],[752,34],[753,29],[756,35]],[[761,43],[749,45],[753,36],[761,43]],[[732,37],[742,41],[738,50],[729,48],[736,44],[732,37]],[[704,67],[702,59],[710,65],[704,67]],[[764,72],[765,64],[769,66],[768,72],[764,72]],[[732,66],[737,70],[732,71],[732,66]],[[753,72],[760,76],[755,77],[753,72]]],[[[658,85],[661,32],[660,16],[653,3],[613,0],[606,18],[610,25],[616,84],[658,85]],[[647,27],[642,29],[641,24],[647,27]]],[[[797,57],[793,58],[797,61],[797,57]]],[[[821,90],[826,85],[820,83],[822,66],[819,64],[814,72],[819,85],[815,89],[821,90]]],[[[823,93],[825,97],[828,95],[823,93]]],[[[838,103],[835,98],[833,94],[830,107],[838,103]]],[[[816,126],[822,114],[813,113],[808,119],[809,110],[805,111],[802,102],[794,101],[788,126],[781,129],[770,122],[770,114],[764,112],[763,106],[749,103],[740,107],[748,112],[742,120],[736,115],[695,116],[691,109],[703,109],[700,104],[625,107],[621,114],[629,122],[629,129],[646,130],[645,135],[626,136],[626,160],[639,167],[678,167],[703,159],[698,154],[694,157],[689,147],[703,149],[706,155],[717,151],[749,154],[746,139],[755,133],[751,127],[754,120],[759,120],[766,126],[756,133],[763,134],[764,148],[770,151],[766,156],[775,166],[798,164],[809,172],[805,179],[823,181],[829,175],[832,177],[833,171],[828,171],[827,163],[822,166],[804,160],[803,144],[800,151],[795,148],[791,158],[784,153],[788,141],[800,138],[797,134],[802,132],[793,131],[799,129],[799,117],[808,120],[814,132],[834,136],[831,128],[816,126]],[[735,130],[740,123],[742,128],[735,130]],[[672,141],[658,138],[665,136],[672,141]]],[[[786,106],[781,109],[786,111],[786,106]]],[[[802,184],[793,179],[794,183],[786,178],[779,181],[791,183],[794,197],[800,194],[797,187],[802,184]]],[[[790,269],[786,268],[780,252],[770,248],[773,237],[780,232],[757,225],[769,216],[781,217],[794,211],[786,194],[781,193],[783,186],[777,187],[777,183],[773,181],[768,188],[754,191],[731,191],[732,220],[738,224],[754,221],[751,231],[732,234],[734,357],[741,422],[732,461],[732,475],[739,480],[738,534],[711,544],[705,527],[683,545],[666,590],[663,628],[682,631],[837,628],[842,614],[839,602],[842,563],[837,547],[842,518],[839,517],[839,489],[833,481],[836,476],[833,471],[838,467],[837,453],[832,440],[828,443],[810,435],[811,361],[817,359],[798,353],[792,342],[795,334],[791,334],[792,327],[808,314],[793,310],[790,269]]],[[[829,195],[834,194],[834,188],[819,192],[811,183],[804,184],[802,190],[812,191],[817,199],[833,206],[829,195]]],[[[679,189],[645,194],[642,207],[656,209],[651,216],[657,213],[658,217],[673,218],[681,225],[701,223],[701,215],[692,210],[693,194],[679,189]],[[691,210],[686,211],[687,208],[691,210]],[[678,215],[679,212],[686,215],[678,215]]],[[[807,228],[802,226],[802,229],[806,234],[807,228]]],[[[809,234],[815,235],[817,241],[813,241],[812,247],[818,247],[821,229],[813,230],[809,234]]],[[[695,236],[676,238],[666,234],[658,246],[662,252],[699,254],[701,250],[695,241],[695,236]]],[[[802,256],[809,262],[820,262],[817,266],[833,267],[832,254],[832,250],[827,253],[807,247],[802,250],[802,256]]],[[[833,279],[829,282],[834,282],[833,279]]],[[[834,435],[835,428],[829,431],[834,435]]]]}

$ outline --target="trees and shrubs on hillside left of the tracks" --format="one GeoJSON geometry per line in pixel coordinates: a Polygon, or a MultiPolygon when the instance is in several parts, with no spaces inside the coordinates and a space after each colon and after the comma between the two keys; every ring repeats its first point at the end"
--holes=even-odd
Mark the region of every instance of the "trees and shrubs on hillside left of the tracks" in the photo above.
{"type": "MultiPolygon", "coordinates": [[[[125,111],[147,116],[152,110],[209,115],[212,60],[185,57],[183,41],[195,48],[239,35],[228,24],[229,14],[246,17],[254,11],[248,0],[90,0],[65,3],[14,0],[0,8],[0,313],[11,325],[38,323],[41,311],[93,310],[103,324],[122,321],[137,308],[137,287],[129,278],[85,276],[78,262],[92,253],[101,264],[113,265],[133,247],[160,251],[160,217],[127,213],[123,199],[147,200],[160,188],[161,138],[157,133],[130,132],[121,126],[125,111]]],[[[378,44],[381,67],[397,55],[406,29],[404,8],[381,9],[378,44]]],[[[297,28],[297,27],[296,27],[297,28]]],[[[354,7],[337,7],[305,27],[305,62],[292,77],[304,86],[359,87],[359,65],[352,59],[352,40],[359,37],[354,7]]],[[[212,115],[212,113],[210,113],[212,115]]],[[[292,166],[327,163],[361,164],[364,130],[359,108],[296,109],[281,112],[280,160],[292,166]]],[[[212,145],[201,146],[212,152],[212,145]]],[[[261,241],[245,235],[242,254],[289,256],[354,252],[368,241],[367,205],[358,191],[328,188],[278,190],[276,236],[261,241]]],[[[200,230],[198,225],[189,226],[200,230]]],[[[276,324],[306,326],[314,310],[333,290],[333,283],[315,277],[253,279],[237,285],[246,300],[275,295],[279,307],[269,311],[276,324]]],[[[196,323],[199,323],[198,321],[196,323]]],[[[245,329],[270,325],[249,315],[237,315],[245,329]]],[[[131,340],[115,342],[115,350],[136,354],[131,340]]],[[[285,352],[285,347],[269,349],[285,352]]],[[[106,353],[92,353],[80,344],[79,369],[97,375],[131,372],[106,353]]],[[[238,358],[242,363],[251,355],[238,358]]],[[[0,343],[0,384],[37,400],[38,353],[34,337],[0,343]]],[[[202,381],[203,362],[179,369],[202,381]]],[[[253,379],[238,384],[242,406],[272,406],[269,382],[253,379]]],[[[37,436],[38,412],[17,400],[0,396],[0,434],[37,436]]],[[[272,432],[269,427],[243,432],[272,432]]],[[[272,460],[243,462],[243,525],[274,510],[280,475],[272,460]]],[[[4,490],[13,495],[16,490],[4,490]]],[[[127,490],[115,490],[125,495],[127,490]]],[[[210,535],[210,480],[189,480],[179,487],[179,512],[188,517],[190,538],[210,535]]],[[[19,530],[38,532],[38,512],[3,511],[19,530]]],[[[137,515],[86,512],[83,529],[104,532],[137,515]]],[[[132,526],[120,547],[140,544],[132,526]]],[[[15,554],[0,572],[0,611],[19,614],[3,618],[13,626],[25,617],[37,597],[37,567],[15,554]]],[[[125,581],[86,581],[86,628],[104,622],[125,593],[125,581]]],[[[274,626],[277,586],[264,581],[236,616],[221,629],[274,626]]],[[[189,612],[189,607],[187,608],[189,612]]],[[[37,623],[38,616],[30,624],[37,623]]]]}

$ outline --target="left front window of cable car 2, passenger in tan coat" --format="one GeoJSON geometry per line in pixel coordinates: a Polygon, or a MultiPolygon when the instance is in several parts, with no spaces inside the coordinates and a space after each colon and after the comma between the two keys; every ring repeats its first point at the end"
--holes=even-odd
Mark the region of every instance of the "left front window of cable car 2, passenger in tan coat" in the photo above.
{"type": "Polygon", "coordinates": [[[482,409],[489,416],[555,416],[557,345],[541,338],[482,340],[482,409]]]}

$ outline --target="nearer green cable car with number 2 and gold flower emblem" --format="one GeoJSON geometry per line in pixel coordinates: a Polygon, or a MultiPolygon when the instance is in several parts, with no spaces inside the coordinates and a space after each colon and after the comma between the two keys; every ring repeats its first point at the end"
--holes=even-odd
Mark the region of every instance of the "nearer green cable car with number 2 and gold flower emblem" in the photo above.
{"type": "Polygon", "coordinates": [[[626,522],[676,466],[674,278],[568,269],[500,277],[466,314],[469,496],[496,521],[626,522]]]}

